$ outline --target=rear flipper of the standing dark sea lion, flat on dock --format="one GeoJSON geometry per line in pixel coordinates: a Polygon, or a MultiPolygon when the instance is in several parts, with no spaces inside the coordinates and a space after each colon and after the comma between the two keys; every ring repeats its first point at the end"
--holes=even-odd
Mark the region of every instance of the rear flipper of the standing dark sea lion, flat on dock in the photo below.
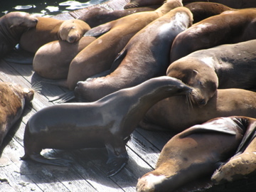
{"type": "Polygon", "coordinates": [[[70,166],[71,164],[70,160],[46,158],[44,156],[41,156],[41,154],[25,155],[21,157],[21,159],[22,160],[32,159],[33,161],[36,161],[41,164],[48,164],[48,165],[54,165],[54,166],[70,166]]]}

